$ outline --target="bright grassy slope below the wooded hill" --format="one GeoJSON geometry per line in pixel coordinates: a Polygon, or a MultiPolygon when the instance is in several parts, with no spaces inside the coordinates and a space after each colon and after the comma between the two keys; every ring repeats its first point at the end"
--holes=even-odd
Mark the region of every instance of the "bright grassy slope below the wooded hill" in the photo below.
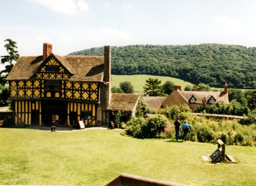
{"type": "Polygon", "coordinates": [[[193,86],[193,84],[177,79],[177,78],[171,78],[171,77],[165,77],[165,76],[151,76],[151,75],[112,75],[112,87],[116,86],[119,87],[120,82],[124,81],[130,81],[132,85],[134,86],[134,90],[136,92],[143,92],[143,86],[145,86],[146,79],[148,78],[158,78],[161,80],[161,83],[164,84],[166,81],[172,81],[175,85],[181,86],[182,89],[186,85],[193,86]]]}

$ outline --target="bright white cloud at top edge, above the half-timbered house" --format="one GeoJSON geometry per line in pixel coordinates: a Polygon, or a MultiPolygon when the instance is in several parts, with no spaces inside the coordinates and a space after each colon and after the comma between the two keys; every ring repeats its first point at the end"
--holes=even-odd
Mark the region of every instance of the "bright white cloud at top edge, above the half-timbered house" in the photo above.
{"type": "Polygon", "coordinates": [[[81,11],[89,10],[89,6],[86,2],[79,0],[75,3],[74,0],[32,0],[34,3],[45,5],[48,8],[58,13],[67,15],[74,15],[78,13],[78,8],[81,11]]]}

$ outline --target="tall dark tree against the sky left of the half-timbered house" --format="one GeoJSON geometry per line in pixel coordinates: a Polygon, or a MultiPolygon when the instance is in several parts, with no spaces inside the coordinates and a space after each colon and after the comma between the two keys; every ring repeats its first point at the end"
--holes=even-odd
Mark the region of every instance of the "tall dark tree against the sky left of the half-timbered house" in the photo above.
{"type": "MultiPolygon", "coordinates": [[[[6,76],[7,76],[13,67],[13,61],[16,61],[19,58],[19,54],[18,54],[18,51],[15,50],[15,49],[17,49],[17,47],[16,47],[17,43],[15,41],[13,41],[11,39],[6,39],[5,41],[8,42],[4,46],[8,52],[8,55],[1,56],[1,63],[5,64],[7,62],[9,64],[7,64],[5,66],[5,69],[3,71],[1,71],[1,74],[6,73],[6,76]]],[[[3,85],[5,84],[5,77],[2,79],[3,85]]]]}

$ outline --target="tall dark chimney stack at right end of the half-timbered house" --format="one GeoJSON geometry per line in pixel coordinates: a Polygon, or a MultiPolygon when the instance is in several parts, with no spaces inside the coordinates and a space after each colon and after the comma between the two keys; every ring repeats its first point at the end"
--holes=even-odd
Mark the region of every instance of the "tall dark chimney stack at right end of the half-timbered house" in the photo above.
{"type": "Polygon", "coordinates": [[[111,48],[104,46],[104,81],[111,82],[111,48]]]}

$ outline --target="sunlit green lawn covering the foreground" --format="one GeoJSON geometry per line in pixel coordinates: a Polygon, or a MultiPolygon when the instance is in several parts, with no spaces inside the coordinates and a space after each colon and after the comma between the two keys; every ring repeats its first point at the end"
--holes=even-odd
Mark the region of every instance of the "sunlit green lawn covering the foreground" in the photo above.
{"type": "Polygon", "coordinates": [[[0,184],[104,185],[121,173],[188,185],[255,185],[256,148],[227,146],[239,164],[207,164],[217,145],[136,139],[120,130],[0,128],[0,184]]]}

